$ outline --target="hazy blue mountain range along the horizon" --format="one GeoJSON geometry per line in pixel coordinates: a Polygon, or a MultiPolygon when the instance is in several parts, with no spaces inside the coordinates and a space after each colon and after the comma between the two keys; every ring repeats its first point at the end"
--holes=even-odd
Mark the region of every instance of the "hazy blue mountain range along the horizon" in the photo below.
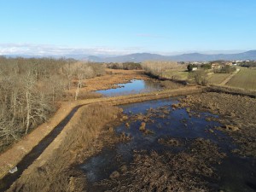
{"type": "Polygon", "coordinates": [[[190,53],[183,55],[158,55],[150,53],[136,53],[130,55],[119,55],[119,56],[96,56],[96,55],[5,55],[9,57],[66,57],[84,61],[95,61],[95,62],[142,62],[142,61],[216,61],[216,60],[253,60],[256,61],[256,50],[249,50],[247,52],[238,54],[217,54],[207,55],[200,53],[190,53]]]}

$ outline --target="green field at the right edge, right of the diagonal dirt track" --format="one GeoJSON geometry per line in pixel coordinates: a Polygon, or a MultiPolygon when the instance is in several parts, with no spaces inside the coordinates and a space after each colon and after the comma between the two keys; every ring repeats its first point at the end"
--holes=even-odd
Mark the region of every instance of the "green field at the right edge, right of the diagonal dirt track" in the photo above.
{"type": "Polygon", "coordinates": [[[247,90],[256,90],[256,70],[241,67],[241,71],[230,79],[226,85],[247,90]]]}

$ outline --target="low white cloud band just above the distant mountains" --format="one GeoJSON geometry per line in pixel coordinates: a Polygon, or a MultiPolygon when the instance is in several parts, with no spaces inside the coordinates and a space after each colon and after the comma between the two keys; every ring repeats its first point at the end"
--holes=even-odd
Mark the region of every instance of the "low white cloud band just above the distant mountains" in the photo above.
{"type": "Polygon", "coordinates": [[[184,53],[202,53],[202,54],[233,54],[241,53],[246,50],[177,50],[177,51],[159,51],[149,50],[143,47],[125,47],[125,48],[109,48],[109,47],[93,47],[79,48],[56,46],[50,44],[0,44],[0,55],[32,55],[32,56],[115,56],[128,55],[132,53],[155,53],[160,55],[181,55],[184,53]]]}

